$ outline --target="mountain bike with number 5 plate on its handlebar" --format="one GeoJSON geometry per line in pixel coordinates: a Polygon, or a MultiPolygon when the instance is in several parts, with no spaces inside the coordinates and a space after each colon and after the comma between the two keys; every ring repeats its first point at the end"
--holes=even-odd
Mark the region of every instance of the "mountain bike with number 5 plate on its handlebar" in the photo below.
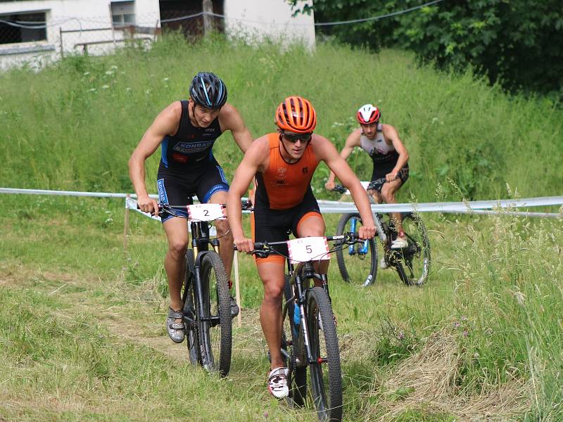
{"type": "Polygon", "coordinates": [[[314,265],[315,261],[334,252],[334,248],[329,250],[328,241],[339,245],[363,243],[354,234],[296,238],[283,242],[257,242],[251,253],[267,257],[273,252],[272,246],[288,245],[281,354],[289,369],[289,403],[297,407],[305,405],[309,369],[310,397],[317,416],[321,421],[341,421],[342,380],[336,319],[327,274],[318,274],[314,265]],[[321,286],[310,286],[311,280],[319,281],[321,286]]]}

